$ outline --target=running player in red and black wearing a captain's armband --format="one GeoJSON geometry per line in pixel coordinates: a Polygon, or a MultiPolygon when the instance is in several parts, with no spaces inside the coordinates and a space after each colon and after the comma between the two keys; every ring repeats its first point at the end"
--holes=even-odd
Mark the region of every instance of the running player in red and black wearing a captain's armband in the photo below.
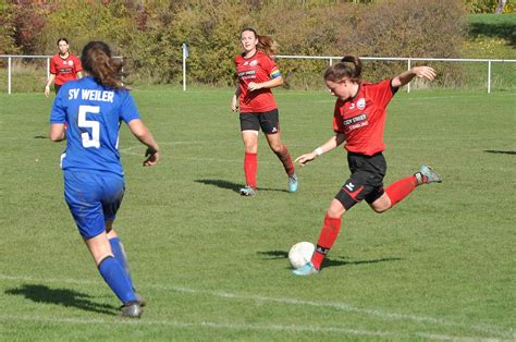
{"type": "Polygon", "coordinates": [[[288,192],[297,191],[297,175],[291,155],[280,138],[278,105],[271,88],[281,86],[283,78],[274,61],[269,57],[275,51],[275,41],[257,35],[253,28],[241,33],[244,52],[235,58],[238,86],[231,110],[239,108],[242,139],[245,145],[244,172],[246,186],[239,190],[243,196],[254,196],[257,191],[258,132],[263,131],[270,148],[283,163],[288,176],[288,192]]]}

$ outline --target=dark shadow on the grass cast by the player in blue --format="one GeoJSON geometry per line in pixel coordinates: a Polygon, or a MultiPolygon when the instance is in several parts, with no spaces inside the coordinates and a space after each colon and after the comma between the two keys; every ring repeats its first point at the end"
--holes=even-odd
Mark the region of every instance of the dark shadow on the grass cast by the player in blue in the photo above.
{"type": "Polygon", "coordinates": [[[14,289],[5,290],[5,294],[23,295],[25,298],[35,303],[76,307],[99,314],[115,315],[118,313],[115,306],[95,303],[90,301],[90,295],[69,289],[50,289],[40,284],[23,284],[14,289]]]}

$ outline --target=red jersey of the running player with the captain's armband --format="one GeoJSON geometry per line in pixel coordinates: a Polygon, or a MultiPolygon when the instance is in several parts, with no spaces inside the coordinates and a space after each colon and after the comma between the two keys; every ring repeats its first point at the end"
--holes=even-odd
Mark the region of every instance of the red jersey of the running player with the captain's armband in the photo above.
{"type": "Polygon", "coordinates": [[[241,87],[241,112],[266,112],[278,108],[270,88],[249,91],[250,82],[262,83],[281,76],[274,61],[265,52],[257,51],[250,58],[238,54],[235,58],[236,72],[241,87]]]}

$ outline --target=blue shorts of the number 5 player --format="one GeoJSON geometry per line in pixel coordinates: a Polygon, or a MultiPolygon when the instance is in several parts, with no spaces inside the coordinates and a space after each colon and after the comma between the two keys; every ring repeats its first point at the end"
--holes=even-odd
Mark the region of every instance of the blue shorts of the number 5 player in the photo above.
{"type": "Polygon", "coordinates": [[[64,198],[84,239],[106,231],[105,221],[113,221],[124,197],[123,176],[114,173],[64,171],[64,198]]]}

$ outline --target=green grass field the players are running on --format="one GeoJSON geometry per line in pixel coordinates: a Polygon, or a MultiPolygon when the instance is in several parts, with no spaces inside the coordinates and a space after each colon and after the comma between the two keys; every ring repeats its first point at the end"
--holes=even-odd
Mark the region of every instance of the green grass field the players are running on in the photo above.
{"type": "MultiPolygon", "coordinates": [[[[127,191],[115,227],[148,305],[120,303],[82,243],[62,195],[64,144],[46,138],[51,99],[0,94],[0,340],[514,340],[516,94],[398,94],[385,131],[385,183],[431,164],[444,183],[383,215],[343,219],[316,277],[286,253],[316,242],[348,176],[339,149],[298,169],[299,192],[260,136],[254,198],[230,89],[133,91],[163,159],[122,130],[127,191]]],[[[292,155],[332,135],[324,91],[275,91],[292,155]]]]}

